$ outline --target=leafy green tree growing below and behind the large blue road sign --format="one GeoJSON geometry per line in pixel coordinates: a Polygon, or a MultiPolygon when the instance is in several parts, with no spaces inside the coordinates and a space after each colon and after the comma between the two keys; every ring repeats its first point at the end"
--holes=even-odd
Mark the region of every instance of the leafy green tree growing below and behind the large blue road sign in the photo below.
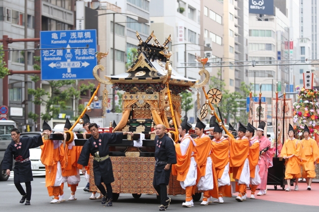
{"type": "MultiPolygon", "coordinates": [[[[34,59],[36,61],[36,64],[33,65],[34,70],[40,70],[40,57],[35,56],[34,59]]],[[[31,80],[37,82],[40,78],[35,75],[31,77],[31,80]]],[[[28,93],[34,97],[32,103],[45,106],[45,112],[41,113],[41,118],[46,121],[57,116],[60,109],[65,110],[67,108],[67,103],[73,98],[75,98],[76,102],[79,102],[81,92],[94,88],[94,84],[89,83],[88,85],[81,84],[80,89],[78,89],[76,80],[50,80],[48,82],[50,85],[50,92],[43,88],[28,89],[28,93]]],[[[82,110],[84,109],[83,106],[81,108],[82,110]]],[[[33,121],[36,121],[39,117],[38,114],[33,112],[29,112],[28,115],[33,121]]]]}

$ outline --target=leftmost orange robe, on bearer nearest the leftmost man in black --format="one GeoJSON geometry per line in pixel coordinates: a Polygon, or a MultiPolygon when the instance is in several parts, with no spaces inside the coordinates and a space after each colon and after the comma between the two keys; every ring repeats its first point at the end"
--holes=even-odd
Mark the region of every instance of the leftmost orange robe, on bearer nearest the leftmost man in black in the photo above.
{"type": "Polygon", "coordinates": [[[64,157],[63,144],[58,148],[53,149],[53,141],[45,140],[42,137],[43,145],[40,146],[41,152],[41,162],[46,168],[46,187],[48,188],[49,196],[53,196],[53,185],[55,182],[56,172],[57,172],[57,162],[60,161],[62,172],[65,169],[66,160],[64,157]]]}

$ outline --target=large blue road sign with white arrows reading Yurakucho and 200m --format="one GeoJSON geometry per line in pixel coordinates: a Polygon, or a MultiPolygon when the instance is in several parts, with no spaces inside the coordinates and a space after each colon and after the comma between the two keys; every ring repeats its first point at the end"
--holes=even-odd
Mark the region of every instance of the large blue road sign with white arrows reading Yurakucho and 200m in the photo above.
{"type": "Polygon", "coordinates": [[[40,43],[41,49],[47,49],[41,50],[42,80],[94,79],[92,70],[97,65],[95,29],[41,31],[40,43]],[[83,48],[87,45],[88,48],[83,48]]]}

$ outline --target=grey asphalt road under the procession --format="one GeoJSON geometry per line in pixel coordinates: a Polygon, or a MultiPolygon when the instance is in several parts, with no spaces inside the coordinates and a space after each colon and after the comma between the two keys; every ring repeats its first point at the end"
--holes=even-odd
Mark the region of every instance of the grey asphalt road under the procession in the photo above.
{"type": "MultiPolygon", "coordinates": [[[[20,204],[21,195],[13,184],[13,177],[8,181],[0,182],[0,211],[1,212],[151,212],[159,211],[159,204],[156,201],[156,195],[142,194],[139,199],[134,199],[131,194],[120,194],[117,202],[113,202],[113,207],[104,207],[101,200],[89,200],[90,193],[84,192],[86,185],[85,179],[81,176],[81,182],[76,192],[76,201],[66,201],[59,204],[50,204],[52,197],[48,196],[45,187],[44,177],[34,177],[31,182],[32,197],[31,206],[20,204]]],[[[24,186],[24,185],[23,185],[24,186]]],[[[71,190],[65,184],[65,199],[70,197],[71,190]]],[[[167,211],[195,211],[196,212],[317,212],[319,207],[295,205],[289,203],[278,203],[264,201],[259,199],[244,202],[237,202],[235,198],[224,198],[224,204],[211,204],[200,206],[200,202],[195,202],[195,208],[182,208],[185,201],[185,195],[171,196],[172,202],[167,211]]]]}

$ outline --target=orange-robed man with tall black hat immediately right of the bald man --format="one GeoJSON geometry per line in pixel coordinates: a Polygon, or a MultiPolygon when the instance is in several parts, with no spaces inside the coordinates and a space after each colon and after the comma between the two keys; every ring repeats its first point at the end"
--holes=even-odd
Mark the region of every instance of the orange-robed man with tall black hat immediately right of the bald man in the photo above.
{"type": "Polygon", "coordinates": [[[177,163],[173,169],[174,175],[177,175],[177,180],[180,181],[181,187],[186,190],[186,201],[182,204],[183,207],[194,207],[192,194],[195,193],[197,181],[197,172],[199,172],[196,159],[197,152],[195,150],[196,142],[187,133],[191,128],[191,124],[187,123],[185,117],[178,127],[178,132],[182,136],[181,143],[175,145],[177,163]]]}

